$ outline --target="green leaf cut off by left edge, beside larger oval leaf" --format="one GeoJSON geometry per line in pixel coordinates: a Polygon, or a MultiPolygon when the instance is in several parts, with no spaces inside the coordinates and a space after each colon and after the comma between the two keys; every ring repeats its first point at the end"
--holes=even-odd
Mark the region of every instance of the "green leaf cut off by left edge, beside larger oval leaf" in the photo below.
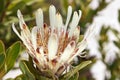
{"type": "Polygon", "coordinates": [[[0,40],[0,68],[3,66],[5,62],[5,47],[3,42],[0,40]]]}

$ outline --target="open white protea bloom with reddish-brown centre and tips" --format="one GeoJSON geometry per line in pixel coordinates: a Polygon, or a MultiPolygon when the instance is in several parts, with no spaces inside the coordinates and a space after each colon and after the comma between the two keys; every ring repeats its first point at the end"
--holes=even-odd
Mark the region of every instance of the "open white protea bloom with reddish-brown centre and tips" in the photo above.
{"type": "Polygon", "coordinates": [[[29,55],[33,58],[36,67],[40,70],[51,70],[55,75],[62,74],[70,65],[71,61],[86,48],[87,39],[91,34],[89,28],[85,37],[79,41],[81,11],[73,13],[72,7],[68,7],[67,20],[63,24],[62,16],[56,13],[53,5],[49,7],[50,25],[44,24],[43,11],[36,11],[36,26],[30,31],[18,10],[20,33],[16,30],[14,23],[12,28],[17,36],[23,41],[28,49],[29,55]]]}

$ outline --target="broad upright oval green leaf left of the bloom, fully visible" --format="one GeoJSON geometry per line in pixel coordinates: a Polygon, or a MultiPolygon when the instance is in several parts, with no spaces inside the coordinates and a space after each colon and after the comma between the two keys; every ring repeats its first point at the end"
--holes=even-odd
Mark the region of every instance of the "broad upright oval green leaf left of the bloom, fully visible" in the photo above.
{"type": "Polygon", "coordinates": [[[6,52],[6,66],[7,66],[7,72],[13,68],[15,61],[20,53],[20,42],[14,43],[12,46],[10,46],[7,49],[6,52]]]}

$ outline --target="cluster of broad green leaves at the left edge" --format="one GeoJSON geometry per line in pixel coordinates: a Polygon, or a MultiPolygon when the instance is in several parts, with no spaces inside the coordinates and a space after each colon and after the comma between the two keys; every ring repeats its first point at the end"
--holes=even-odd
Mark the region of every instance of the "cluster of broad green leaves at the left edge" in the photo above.
{"type": "Polygon", "coordinates": [[[14,67],[20,48],[20,42],[15,42],[5,51],[5,46],[0,40],[0,79],[14,67]]]}

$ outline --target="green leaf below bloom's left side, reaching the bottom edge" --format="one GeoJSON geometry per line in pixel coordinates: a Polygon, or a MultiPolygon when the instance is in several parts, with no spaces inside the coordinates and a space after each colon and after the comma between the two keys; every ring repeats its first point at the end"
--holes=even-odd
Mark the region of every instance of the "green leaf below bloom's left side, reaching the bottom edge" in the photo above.
{"type": "Polygon", "coordinates": [[[20,62],[20,69],[23,72],[23,74],[26,75],[28,80],[35,80],[34,75],[30,72],[30,70],[27,67],[27,64],[25,63],[25,61],[20,62]]]}

